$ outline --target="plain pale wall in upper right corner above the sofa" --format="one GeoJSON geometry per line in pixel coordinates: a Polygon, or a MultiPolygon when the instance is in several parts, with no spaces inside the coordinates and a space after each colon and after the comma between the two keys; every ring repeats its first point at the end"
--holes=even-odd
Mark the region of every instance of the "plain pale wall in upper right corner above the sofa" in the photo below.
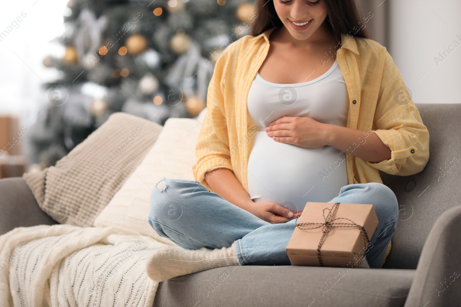
{"type": "Polygon", "coordinates": [[[389,1],[387,49],[414,103],[461,103],[461,1],[389,1]],[[460,46],[441,58],[454,41],[460,46]]]}

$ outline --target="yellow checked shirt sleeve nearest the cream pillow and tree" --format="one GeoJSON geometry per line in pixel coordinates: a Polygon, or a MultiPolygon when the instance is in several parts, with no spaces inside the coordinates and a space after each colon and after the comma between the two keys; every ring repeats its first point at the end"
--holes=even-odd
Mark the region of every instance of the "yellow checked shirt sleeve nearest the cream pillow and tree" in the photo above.
{"type": "Polygon", "coordinates": [[[195,145],[197,161],[192,167],[195,180],[210,191],[213,190],[205,181],[207,172],[216,168],[232,170],[223,96],[225,84],[222,82],[226,51],[216,60],[208,86],[207,111],[195,145]]]}

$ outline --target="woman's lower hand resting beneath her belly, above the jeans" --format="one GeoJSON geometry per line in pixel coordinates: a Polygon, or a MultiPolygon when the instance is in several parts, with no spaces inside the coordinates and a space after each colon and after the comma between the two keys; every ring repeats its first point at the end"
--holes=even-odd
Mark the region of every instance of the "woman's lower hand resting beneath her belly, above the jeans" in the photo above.
{"type": "Polygon", "coordinates": [[[286,223],[301,215],[301,212],[291,212],[289,209],[271,202],[252,202],[245,206],[245,210],[271,224],[286,223]]]}

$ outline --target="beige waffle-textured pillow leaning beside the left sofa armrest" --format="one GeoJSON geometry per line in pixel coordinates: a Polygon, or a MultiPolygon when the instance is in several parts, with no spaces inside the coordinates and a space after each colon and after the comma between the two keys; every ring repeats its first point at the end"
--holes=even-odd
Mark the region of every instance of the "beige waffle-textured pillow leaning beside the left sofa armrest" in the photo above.
{"type": "Polygon", "coordinates": [[[55,166],[25,173],[40,208],[62,224],[93,226],[163,126],[117,112],[55,166]]]}

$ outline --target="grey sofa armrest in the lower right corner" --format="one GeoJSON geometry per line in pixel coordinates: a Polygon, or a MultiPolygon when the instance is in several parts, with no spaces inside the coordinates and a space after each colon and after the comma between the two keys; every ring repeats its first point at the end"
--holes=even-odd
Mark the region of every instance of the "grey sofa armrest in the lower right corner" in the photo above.
{"type": "Polygon", "coordinates": [[[445,211],[429,232],[405,307],[458,306],[461,301],[461,206],[445,211]]]}

